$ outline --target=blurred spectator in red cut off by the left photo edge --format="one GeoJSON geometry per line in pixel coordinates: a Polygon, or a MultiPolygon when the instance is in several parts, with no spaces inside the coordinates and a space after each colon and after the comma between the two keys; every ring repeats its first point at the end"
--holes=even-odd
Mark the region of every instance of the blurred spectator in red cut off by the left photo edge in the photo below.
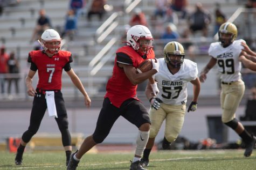
{"type": "Polygon", "coordinates": [[[8,73],[9,55],[5,51],[5,47],[0,48],[0,83],[1,83],[1,93],[5,92],[5,74],[8,73]]]}

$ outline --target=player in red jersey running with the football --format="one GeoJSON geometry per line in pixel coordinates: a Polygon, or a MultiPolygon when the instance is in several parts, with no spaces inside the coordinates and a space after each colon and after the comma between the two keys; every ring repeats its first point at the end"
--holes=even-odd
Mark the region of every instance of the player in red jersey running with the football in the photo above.
{"type": "Polygon", "coordinates": [[[128,30],[127,45],[116,51],[113,75],[107,83],[107,93],[96,129],[91,136],[85,138],[80,149],[71,155],[68,170],[76,169],[81,157],[93,146],[104,141],[119,116],[123,116],[139,129],[130,170],[144,169],[140,164],[140,158],[148,141],[151,122],[146,107],[137,98],[136,90],[137,84],[152,77],[159,69],[157,60],[154,60],[152,41],[153,37],[146,26],[135,25],[128,30]],[[136,68],[149,58],[152,58],[153,69],[137,73],[136,68]]]}

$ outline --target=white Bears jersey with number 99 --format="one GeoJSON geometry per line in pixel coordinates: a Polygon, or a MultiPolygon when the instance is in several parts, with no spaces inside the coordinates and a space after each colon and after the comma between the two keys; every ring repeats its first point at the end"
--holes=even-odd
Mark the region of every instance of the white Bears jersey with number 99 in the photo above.
{"type": "Polygon", "coordinates": [[[217,59],[218,71],[223,82],[236,82],[241,79],[241,62],[239,55],[244,48],[241,45],[244,40],[236,40],[230,46],[224,48],[219,42],[213,42],[209,48],[209,55],[217,59]]]}

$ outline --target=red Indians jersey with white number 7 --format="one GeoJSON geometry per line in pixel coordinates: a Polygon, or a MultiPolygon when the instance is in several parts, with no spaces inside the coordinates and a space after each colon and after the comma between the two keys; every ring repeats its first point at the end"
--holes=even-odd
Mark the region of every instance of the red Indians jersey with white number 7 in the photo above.
{"type": "Polygon", "coordinates": [[[70,51],[59,51],[52,57],[47,56],[43,51],[30,51],[31,62],[36,64],[38,69],[37,88],[43,90],[61,90],[61,76],[64,66],[70,60],[70,51]]]}

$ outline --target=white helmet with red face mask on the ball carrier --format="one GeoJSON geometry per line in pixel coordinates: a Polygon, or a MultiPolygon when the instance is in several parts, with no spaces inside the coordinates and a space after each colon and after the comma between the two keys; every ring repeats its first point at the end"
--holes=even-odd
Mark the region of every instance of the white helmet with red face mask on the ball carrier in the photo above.
{"type": "Polygon", "coordinates": [[[133,47],[140,55],[150,53],[153,49],[152,42],[153,36],[146,26],[135,25],[127,31],[127,46],[133,47]]]}

